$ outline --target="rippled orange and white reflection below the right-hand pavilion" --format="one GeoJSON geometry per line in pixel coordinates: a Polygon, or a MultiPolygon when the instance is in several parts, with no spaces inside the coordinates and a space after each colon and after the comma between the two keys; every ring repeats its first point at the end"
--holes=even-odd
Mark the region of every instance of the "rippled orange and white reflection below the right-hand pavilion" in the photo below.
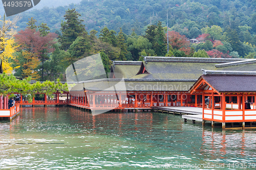
{"type": "Polygon", "coordinates": [[[211,159],[255,157],[255,130],[204,130],[200,152],[211,159]]]}

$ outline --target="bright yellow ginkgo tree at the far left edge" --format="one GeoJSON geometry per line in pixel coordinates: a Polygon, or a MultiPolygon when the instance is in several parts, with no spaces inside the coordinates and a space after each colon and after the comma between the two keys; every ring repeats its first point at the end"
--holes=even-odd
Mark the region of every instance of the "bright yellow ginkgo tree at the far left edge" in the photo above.
{"type": "Polygon", "coordinates": [[[16,34],[16,23],[18,16],[13,20],[4,18],[0,20],[0,59],[2,59],[2,68],[6,74],[11,74],[13,67],[11,66],[10,59],[13,59],[13,53],[15,52],[14,37],[16,34]]]}

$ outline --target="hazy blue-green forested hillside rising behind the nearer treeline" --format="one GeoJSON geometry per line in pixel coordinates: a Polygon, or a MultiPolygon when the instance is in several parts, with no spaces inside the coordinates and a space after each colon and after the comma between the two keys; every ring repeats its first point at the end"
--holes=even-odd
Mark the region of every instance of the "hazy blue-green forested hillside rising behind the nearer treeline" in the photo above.
{"type": "MultiPolygon", "coordinates": [[[[44,0],[38,6],[42,4],[44,0]]],[[[39,23],[47,22],[47,25],[55,31],[60,28],[65,11],[68,8],[75,8],[81,14],[81,19],[84,20],[88,31],[94,29],[99,32],[104,26],[118,31],[121,27],[125,34],[131,34],[132,29],[135,29],[137,35],[142,35],[147,25],[156,25],[158,20],[166,25],[166,10],[168,10],[169,27],[173,27],[174,30],[188,38],[195,38],[200,34],[201,28],[212,25],[222,28],[231,26],[237,30],[239,26],[248,25],[251,27],[249,32],[256,33],[255,0],[199,0],[195,2],[185,0],[82,0],[80,4],[74,4],[24,12],[21,14],[23,18],[18,26],[24,29],[28,18],[34,17],[39,23]]]]}

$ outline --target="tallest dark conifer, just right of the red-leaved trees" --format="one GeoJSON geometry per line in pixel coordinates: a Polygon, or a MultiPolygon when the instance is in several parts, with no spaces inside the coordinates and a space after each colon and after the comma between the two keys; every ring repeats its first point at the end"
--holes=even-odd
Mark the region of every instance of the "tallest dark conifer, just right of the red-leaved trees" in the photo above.
{"type": "Polygon", "coordinates": [[[81,16],[75,9],[69,9],[64,15],[67,21],[61,23],[61,33],[59,42],[61,43],[61,50],[68,50],[70,45],[81,35],[86,29],[82,24],[83,20],[79,19],[81,16]]]}

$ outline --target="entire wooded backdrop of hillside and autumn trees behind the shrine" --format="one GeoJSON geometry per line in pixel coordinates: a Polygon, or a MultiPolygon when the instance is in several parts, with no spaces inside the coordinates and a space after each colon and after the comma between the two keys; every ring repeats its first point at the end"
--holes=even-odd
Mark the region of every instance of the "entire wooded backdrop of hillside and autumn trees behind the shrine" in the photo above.
{"type": "Polygon", "coordinates": [[[106,72],[113,60],[142,61],[142,56],[255,58],[255,5],[238,0],[82,0],[44,7],[20,14],[15,52],[0,57],[4,67],[12,66],[8,70],[15,68],[15,76],[35,80],[65,80],[71,63],[97,53],[106,72]],[[192,38],[200,43],[190,43],[192,38]]]}

